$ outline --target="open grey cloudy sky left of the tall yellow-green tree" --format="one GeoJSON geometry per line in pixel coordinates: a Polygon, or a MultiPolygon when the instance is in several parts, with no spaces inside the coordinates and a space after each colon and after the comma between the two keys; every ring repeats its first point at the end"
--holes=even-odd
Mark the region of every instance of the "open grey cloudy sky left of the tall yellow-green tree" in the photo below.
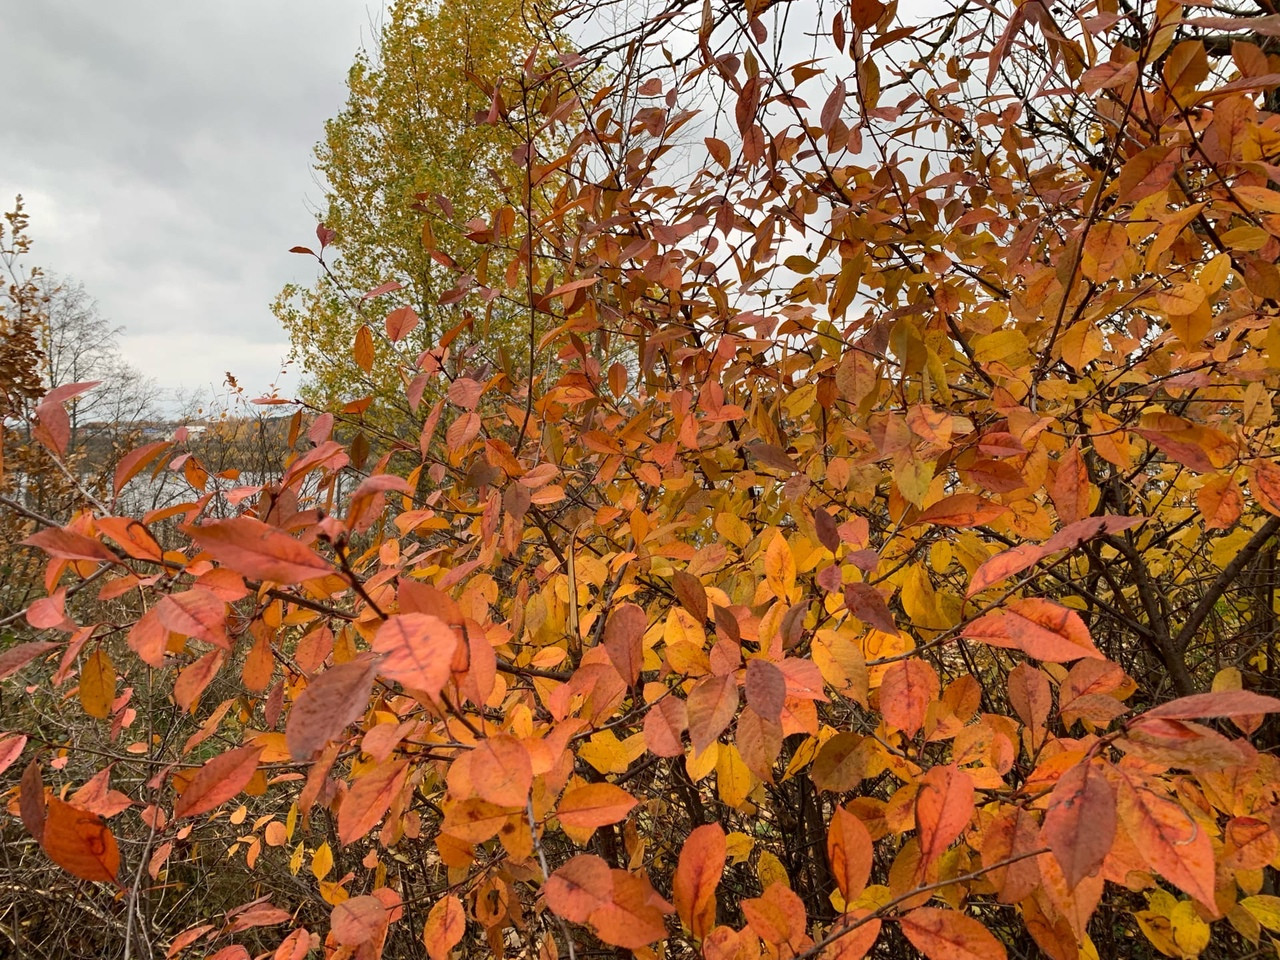
{"type": "MultiPolygon", "coordinates": [[[[81,280],[127,360],[207,394],[257,396],[288,339],[269,305],[314,276],[311,150],[344,101],[379,0],[9,3],[0,204],[31,262],[81,280]]],[[[280,380],[285,394],[297,374],[280,380]]]]}

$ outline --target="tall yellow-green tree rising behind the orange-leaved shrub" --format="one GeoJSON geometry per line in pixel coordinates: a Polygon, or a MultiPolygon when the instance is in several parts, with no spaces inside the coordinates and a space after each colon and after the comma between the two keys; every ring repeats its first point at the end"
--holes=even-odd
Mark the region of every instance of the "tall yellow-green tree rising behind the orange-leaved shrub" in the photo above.
{"type": "MultiPolygon", "coordinates": [[[[274,305],[312,402],[372,396],[371,412],[403,413],[401,371],[458,324],[454,355],[480,362],[527,334],[512,330],[500,303],[472,312],[447,294],[460,270],[485,268],[470,262],[465,224],[488,220],[504,200],[502,169],[520,141],[475,120],[490,110],[492,78],[535,44],[535,15],[516,0],[404,0],[389,9],[376,46],[357,54],[347,105],[316,147],[337,256],[321,248],[316,283],[287,285],[274,305]]],[[[330,234],[321,232],[324,247],[330,234]]]]}

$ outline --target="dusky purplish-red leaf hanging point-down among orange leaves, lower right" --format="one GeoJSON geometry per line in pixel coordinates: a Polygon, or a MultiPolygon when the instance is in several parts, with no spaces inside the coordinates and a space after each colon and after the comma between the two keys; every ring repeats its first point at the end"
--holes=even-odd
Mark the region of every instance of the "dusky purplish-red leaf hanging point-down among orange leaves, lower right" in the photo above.
{"type": "Polygon", "coordinates": [[[1053,851],[1071,890],[1092,877],[1116,835],[1115,788],[1093,763],[1064,773],[1050,794],[1041,836],[1053,851]]]}

